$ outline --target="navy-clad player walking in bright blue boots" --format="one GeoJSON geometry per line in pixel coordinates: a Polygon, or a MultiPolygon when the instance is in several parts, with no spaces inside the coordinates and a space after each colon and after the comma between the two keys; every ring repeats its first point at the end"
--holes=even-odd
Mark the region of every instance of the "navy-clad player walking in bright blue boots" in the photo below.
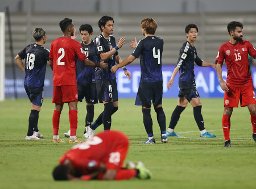
{"type": "Polygon", "coordinates": [[[197,123],[197,126],[200,130],[200,137],[216,137],[216,135],[212,135],[207,132],[204,128],[204,119],[201,114],[202,104],[199,99],[199,94],[196,89],[195,82],[195,73],[194,73],[194,62],[197,65],[207,67],[212,66],[212,68],[216,69],[216,65],[205,62],[199,58],[196,52],[196,48],[194,43],[196,41],[198,35],[198,28],[195,24],[188,24],[185,27],[185,33],[187,36],[187,41],[182,45],[180,49],[179,59],[177,61],[176,68],[172,73],[170,81],[167,83],[168,89],[172,87],[174,83],[174,78],[177,72],[179,71],[179,98],[177,102],[177,106],[172,112],[171,121],[169,128],[167,129],[167,136],[180,137],[174,132],[174,128],[177,124],[177,121],[180,119],[180,114],[185,110],[188,103],[190,103],[193,107],[193,114],[197,123]]]}

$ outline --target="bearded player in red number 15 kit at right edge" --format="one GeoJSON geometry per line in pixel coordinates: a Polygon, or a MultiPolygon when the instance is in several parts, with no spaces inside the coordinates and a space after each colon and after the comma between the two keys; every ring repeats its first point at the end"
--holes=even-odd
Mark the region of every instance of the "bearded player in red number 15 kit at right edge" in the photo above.
{"type": "Polygon", "coordinates": [[[230,22],[228,24],[230,41],[222,44],[218,50],[215,63],[217,64],[217,76],[220,81],[224,95],[224,114],[222,117],[222,128],[225,137],[225,148],[230,145],[230,117],[234,107],[238,107],[240,100],[241,107],[247,106],[251,114],[253,125],[253,139],[256,141],[256,101],[251,78],[248,54],[256,58],[256,49],[246,40],[243,40],[243,24],[230,22]],[[228,75],[226,82],[222,78],[222,64],[226,62],[228,75]]]}

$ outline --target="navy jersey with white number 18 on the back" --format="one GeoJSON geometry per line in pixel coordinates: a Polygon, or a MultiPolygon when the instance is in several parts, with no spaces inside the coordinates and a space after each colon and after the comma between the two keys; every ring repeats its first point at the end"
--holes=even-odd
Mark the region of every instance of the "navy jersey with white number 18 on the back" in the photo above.
{"type": "Polygon", "coordinates": [[[19,53],[19,57],[25,59],[24,85],[29,87],[41,87],[46,76],[46,63],[49,60],[49,50],[39,44],[27,45],[19,53]]]}

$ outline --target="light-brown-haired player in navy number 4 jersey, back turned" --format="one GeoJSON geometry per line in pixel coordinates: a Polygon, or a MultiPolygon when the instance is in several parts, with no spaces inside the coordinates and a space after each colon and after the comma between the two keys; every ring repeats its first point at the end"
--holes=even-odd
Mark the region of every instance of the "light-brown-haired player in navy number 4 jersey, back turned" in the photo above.
{"type": "MultiPolygon", "coordinates": [[[[163,39],[156,37],[155,31],[158,24],[152,18],[145,18],[141,21],[142,34],[144,39],[138,44],[131,45],[135,47],[134,52],[123,60],[120,64],[112,67],[115,73],[122,66],[128,65],[140,57],[141,81],[135,100],[135,105],[142,106],[143,123],[146,129],[148,139],[143,144],[154,144],[155,139],[152,129],[151,118],[151,100],[157,115],[158,124],[161,131],[161,141],[166,143],[166,116],[162,107],[163,98],[163,75],[162,75],[162,53],[163,39]]],[[[136,43],[136,40],[135,42],[136,43]]]]}

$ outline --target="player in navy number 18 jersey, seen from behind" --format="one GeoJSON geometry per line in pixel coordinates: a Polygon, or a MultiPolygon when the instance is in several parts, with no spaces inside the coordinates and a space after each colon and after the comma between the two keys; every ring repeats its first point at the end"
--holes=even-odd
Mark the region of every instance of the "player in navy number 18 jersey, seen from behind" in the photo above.
{"type": "Polygon", "coordinates": [[[44,77],[46,64],[49,60],[49,50],[44,48],[47,37],[42,28],[35,28],[32,32],[34,44],[27,45],[16,57],[19,68],[25,73],[24,88],[31,102],[31,112],[28,119],[26,140],[40,140],[43,135],[38,130],[38,118],[43,104],[44,77]],[[25,59],[25,66],[22,60],[25,59]]]}

